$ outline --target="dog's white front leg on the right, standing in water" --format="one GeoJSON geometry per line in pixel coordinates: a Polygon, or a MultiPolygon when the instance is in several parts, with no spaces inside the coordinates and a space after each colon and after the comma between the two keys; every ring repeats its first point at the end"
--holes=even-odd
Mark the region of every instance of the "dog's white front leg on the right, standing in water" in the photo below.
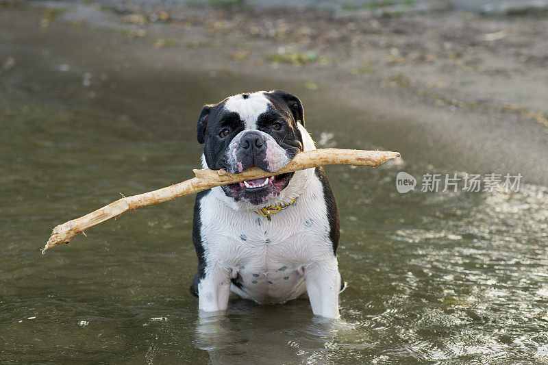
{"type": "Polygon", "coordinates": [[[329,262],[314,262],[304,270],[306,291],[316,316],[338,318],[340,274],[336,257],[329,262]]]}

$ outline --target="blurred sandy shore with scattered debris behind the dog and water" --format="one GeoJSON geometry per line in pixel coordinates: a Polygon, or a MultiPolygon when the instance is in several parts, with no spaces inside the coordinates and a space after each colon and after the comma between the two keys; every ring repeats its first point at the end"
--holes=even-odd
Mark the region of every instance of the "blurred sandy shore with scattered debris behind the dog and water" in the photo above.
{"type": "MultiPolygon", "coordinates": [[[[362,129],[372,144],[348,136],[349,145],[338,147],[391,149],[411,163],[519,172],[525,181],[548,184],[547,18],[200,7],[172,14],[56,2],[3,7],[0,39],[11,47],[0,52],[3,75],[21,66],[14,47],[32,44],[82,64],[129,62],[162,77],[237,76],[229,90],[290,88],[309,118],[337,110],[334,133],[341,122],[340,133],[362,129]]],[[[210,94],[221,98],[227,90],[210,94]]]]}

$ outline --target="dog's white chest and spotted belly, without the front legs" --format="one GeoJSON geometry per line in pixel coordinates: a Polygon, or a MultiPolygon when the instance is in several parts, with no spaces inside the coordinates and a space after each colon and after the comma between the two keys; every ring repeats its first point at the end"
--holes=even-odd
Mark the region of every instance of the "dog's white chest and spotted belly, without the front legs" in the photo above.
{"type": "Polygon", "coordinates": [[[303,271],[330,260],[329,221],[323,190],[313,179],[306,192],[269,221],[256,212],[226,207],[213,194],[201,201],[201,237],[209,268],[232,272],[238,294],[260,303],[303,292],[303,271]]]}

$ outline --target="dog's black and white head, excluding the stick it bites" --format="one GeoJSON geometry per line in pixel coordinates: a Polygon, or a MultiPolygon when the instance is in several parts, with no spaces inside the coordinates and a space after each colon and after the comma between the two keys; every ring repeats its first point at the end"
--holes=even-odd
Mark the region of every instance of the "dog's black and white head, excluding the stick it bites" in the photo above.
{"type": "MultiPolygon", "coordinates": [[[[197,126],[208,168],[241,173],[251,166],[275,172],[303,151],[303,106],[283,91],[253,92],[206,105],[197,126]]],[[[227,197],[264,204],[288,186],[293,173],[223,186],[227,197]]]]}

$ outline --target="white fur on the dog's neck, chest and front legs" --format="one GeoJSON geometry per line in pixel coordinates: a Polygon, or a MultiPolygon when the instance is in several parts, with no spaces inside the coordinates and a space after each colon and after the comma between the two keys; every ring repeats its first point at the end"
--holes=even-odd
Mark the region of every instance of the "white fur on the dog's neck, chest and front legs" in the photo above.
{"type": "MultiPolygon", "coordinates": [[[[305,151],[315,149],[299,124],[305,151]]],[[[207,168],[202,155],[202,166],[207,168]]],[[[297,171],[269,205],[289,203],[271,221],[236,202],[221,188],[200,201],[201,238],[206,276],[199,283],[199,307],[204,312],[226,310],[230,292],[258,303],[285,303],[308,293],[312,312],[338,316],[340,275],[329,240],[323,186],[313,168],[297,171]],[[230,280],[242,277],[245,290],[230,280]]],[[[262,206],[259,206],[262,207],[262,206]]]]}

